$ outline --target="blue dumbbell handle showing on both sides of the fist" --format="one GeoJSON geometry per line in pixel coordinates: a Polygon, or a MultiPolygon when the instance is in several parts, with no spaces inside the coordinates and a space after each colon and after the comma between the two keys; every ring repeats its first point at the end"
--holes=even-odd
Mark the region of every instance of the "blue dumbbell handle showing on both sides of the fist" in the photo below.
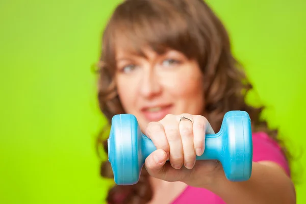
{"type": "MultiPolygon", "coordinates": [[[[220,132],[217,134],[207,134],[205,136],[205,150],[201,156],[196,156],[196,160],[219,160],[219,156],[223,155],[222,151],[222,140],[219,137],[220,132]]],[[[204,136],[203,136],[204,137],[204,136]]],[[[145,160],[153,151],[157,148],[146,135],[142,134],[141,138],[142,154],[145,160]]],[[[224,148],[223,148],[224,150],[224,148]]]]}

